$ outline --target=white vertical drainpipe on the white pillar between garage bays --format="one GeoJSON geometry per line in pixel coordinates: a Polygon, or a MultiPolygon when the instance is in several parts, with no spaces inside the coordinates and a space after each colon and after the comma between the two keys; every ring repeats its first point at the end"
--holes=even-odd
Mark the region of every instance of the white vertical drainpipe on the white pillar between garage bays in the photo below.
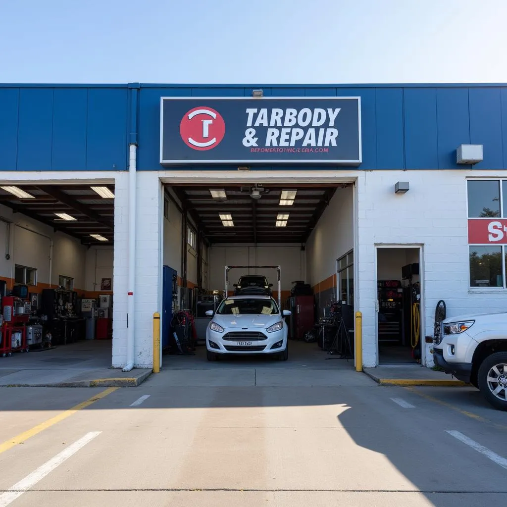
{"type": "Polygon", "coordinates": [[[130,144],[129,153],[129,211],[128,211],[128,307],[127,307],[127,364],[122,371],[134,368],[134,285],[135,285],[135,220],[136,220],[136,162],[137,146],[130,144]]]}

